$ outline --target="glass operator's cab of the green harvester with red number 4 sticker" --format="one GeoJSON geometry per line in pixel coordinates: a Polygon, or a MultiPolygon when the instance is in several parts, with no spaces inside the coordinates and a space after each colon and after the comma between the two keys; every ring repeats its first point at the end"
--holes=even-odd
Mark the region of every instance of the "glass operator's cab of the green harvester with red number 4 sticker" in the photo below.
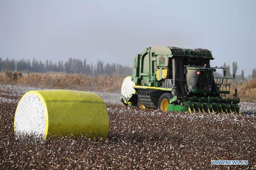
{"type": "Polygon", "coordinates": [[[187,87],[188,90],[211,90],[213,70],[188,69],[187,87]]]}

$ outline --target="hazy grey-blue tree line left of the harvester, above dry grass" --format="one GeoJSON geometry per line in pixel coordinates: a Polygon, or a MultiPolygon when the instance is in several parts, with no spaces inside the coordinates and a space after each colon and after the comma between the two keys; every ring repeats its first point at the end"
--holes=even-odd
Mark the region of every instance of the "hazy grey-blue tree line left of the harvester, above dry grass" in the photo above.
{"type": "Polygon", "coordinates": [[[38,61],[35,58],[30,61],[21,60],[9,60],[8,58],[2,60],[0,58],[0,71],[27,71],[27,72],[65,72],[65,73],[77,73],[86,75],[101,75],[101,74],[116,74],[116,75],[131,75],[132,68],[129,66],[122,66],[121,64],[103,64],[103,61],[98,60],[97,64],[88,64],[86,59],[83,61],[75,58],[69,58],[66,62],[52,62],[46,60],[45,63],[38,61]]]}

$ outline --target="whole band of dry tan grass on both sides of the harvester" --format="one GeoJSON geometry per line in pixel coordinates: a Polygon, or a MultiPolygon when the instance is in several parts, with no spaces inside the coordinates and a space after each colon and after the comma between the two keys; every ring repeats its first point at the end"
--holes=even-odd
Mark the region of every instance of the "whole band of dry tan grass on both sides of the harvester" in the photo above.
{"type": "MultiPolygon", "coordinates": [[[[116,75],[99,75],[87,76],[83,74],[67,74],[67,73],[31,73],[21,74],[15,72],[0,73],[1,84],[18,84],[28,86],[42,86],[55,89],[76,89],[87,91],[108,91],[120,92],[124,76],[116,75]]],[[[234,98],[235,88],[241,101],[256,101],[256,79],[249,81],[229,82],[230,87],[229,98],[234,98]]]]}

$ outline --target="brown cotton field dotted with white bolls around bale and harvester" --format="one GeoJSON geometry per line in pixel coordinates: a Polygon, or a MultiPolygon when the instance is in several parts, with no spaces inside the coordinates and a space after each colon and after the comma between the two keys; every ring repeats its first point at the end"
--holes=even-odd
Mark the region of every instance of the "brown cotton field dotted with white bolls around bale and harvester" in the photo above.
{"type": "Polygon", "coordinates": [[[241,102],[242,115],[189,114],[125,107],[119,93],[95,92],[107,103],[107,140],[17,138],[15,109],[33,89],[44,88],[0,85],[0,169],[256,169],[256,103],[241,102]]]}

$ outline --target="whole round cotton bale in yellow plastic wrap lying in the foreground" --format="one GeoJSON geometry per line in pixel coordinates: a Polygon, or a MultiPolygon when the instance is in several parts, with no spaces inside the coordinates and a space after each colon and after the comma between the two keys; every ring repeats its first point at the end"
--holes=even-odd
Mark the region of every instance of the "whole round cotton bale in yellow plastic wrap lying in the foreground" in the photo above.
{"type": "Polygon", "coordinates": [[[107,138],[108,128],[105,102],[97,94],[84,91],[29,91],[19,101],[14,119],[16,135],[44,131],[43,138],[80,133],[107,138]]]}

